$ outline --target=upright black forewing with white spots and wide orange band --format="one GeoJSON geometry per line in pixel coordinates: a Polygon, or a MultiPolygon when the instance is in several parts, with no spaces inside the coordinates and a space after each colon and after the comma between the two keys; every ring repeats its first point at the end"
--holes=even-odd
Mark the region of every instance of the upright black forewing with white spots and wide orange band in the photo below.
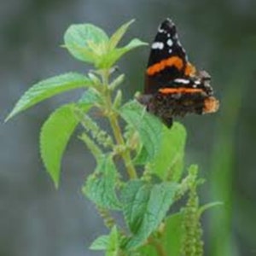
{"type": "Polygon", "coordinates": [[[177,28],[170,19],[164,20],[151,44],[146,71],[145,93],[152,94],[170,81],[195,73],[177,37],[177,28]]]}

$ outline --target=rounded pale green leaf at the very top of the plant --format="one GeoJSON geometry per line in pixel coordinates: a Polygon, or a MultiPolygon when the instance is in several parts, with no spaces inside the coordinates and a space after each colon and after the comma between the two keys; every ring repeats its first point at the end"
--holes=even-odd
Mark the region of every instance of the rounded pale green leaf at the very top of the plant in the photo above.
{"type": "Polygon", "coordinates": [[[67,28],[64,42],[70,54],[79,61],[96,63],[106,54],[108,35],[92,24],[78,24],[67,28]]]}

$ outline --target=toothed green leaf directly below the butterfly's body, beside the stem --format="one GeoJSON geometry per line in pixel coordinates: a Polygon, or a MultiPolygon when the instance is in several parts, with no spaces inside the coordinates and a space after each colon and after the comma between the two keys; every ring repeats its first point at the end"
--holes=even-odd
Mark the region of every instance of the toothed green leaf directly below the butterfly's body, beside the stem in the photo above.
{"type": "MultiPolygon", "coordinates": [[[[141,104],[136,101],[126,103],[119,111],[121,117],[133,126],[139,133],[143,147],[148,157],[152,160],[158,154],[162,140],[163,124],[153,114],[147,113],[141,104]]],[[[145,151],[143,154],[145,154],[145,151]]],[[[145,155],[144,155],[145,156],[145,155]]]]}

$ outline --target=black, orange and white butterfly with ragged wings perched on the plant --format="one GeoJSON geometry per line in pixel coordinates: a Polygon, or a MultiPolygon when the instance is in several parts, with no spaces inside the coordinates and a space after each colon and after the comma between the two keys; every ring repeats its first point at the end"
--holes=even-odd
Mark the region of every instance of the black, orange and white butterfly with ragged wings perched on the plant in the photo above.
{"type": "Polygon", "coordinates": [[[197,72],[188,61],[172,20],[162,22],[151,45],[144,94],[139,102],[171,127],[174,116],[218,110],[210,80],[206,71],[197,72]]]}

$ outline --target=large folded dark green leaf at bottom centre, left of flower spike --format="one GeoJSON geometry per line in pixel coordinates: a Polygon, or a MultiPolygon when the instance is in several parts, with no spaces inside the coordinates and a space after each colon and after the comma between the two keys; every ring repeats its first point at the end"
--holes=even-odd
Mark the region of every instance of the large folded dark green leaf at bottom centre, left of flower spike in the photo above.
{"type": "Polygon", "coordinates": [[[171,207],[176,183],[148,184],[131,181],[122,191],[123,212],[132,236],[125,247],[139,247],[158,228],[171,207]]]}

